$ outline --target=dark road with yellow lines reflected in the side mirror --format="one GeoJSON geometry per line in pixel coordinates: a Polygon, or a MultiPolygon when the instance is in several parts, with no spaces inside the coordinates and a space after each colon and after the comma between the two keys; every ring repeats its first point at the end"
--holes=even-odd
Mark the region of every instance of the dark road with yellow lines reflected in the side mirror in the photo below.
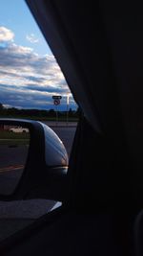
{"type": "Polygon", "coordinates": [[[0,145],[0,195],[11,195],[23,173],[29,147],[0,145]]]}

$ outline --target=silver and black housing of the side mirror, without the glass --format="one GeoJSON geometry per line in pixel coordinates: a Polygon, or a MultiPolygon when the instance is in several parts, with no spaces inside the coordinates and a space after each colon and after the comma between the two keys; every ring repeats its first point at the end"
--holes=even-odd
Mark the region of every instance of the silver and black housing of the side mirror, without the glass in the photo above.
{"type": "Polygon", "coordinates": [[[10,196],[0,200],[50,198],[63,200],[67,188],[68,154],[56,135],[47,125],[32,120],[0,118],[4,125],[29,128],[31,141],[23,175],[10,196]]]}

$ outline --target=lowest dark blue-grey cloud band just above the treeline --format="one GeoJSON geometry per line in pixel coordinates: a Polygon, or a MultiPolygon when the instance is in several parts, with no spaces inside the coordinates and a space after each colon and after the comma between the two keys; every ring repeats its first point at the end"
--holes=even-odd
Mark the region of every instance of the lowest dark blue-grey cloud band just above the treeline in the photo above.
{"type": "MultiPolygon", "coordinates": [[[[1,84],[0,90],[0,102],[2,102],[3,105],[14,106],[17,108],[54,108],[52,95],[55,93],[38,90],[32,91],[31,88],[26,90],[24,87],[16,88],[16,86],[6,86],[6,84],[1,84]]],[[[58,108],[59,110],[66,110],[66,106],[67,97],[66,95],[62,95],[61,105],[59,105],[58,108]]],[[[70,107],[73,109],[76,108],[72,97],[70,98],[70,107]]]]}

